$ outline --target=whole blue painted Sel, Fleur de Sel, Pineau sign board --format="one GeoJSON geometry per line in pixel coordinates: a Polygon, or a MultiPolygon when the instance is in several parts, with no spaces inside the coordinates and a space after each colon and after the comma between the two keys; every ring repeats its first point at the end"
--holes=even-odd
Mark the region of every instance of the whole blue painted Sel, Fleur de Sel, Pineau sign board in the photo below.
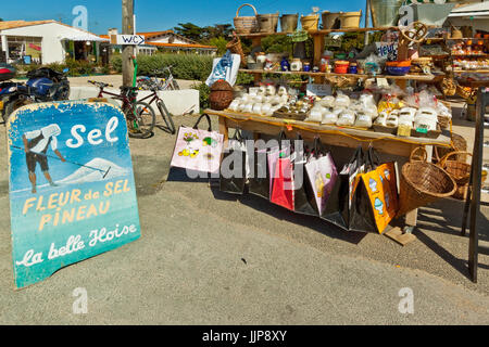
{"type": "Polygon", "coordinates": [[[9,118],[15,286],[140,237],[127,126],[108,103],[24,106],[9,118]]]}

